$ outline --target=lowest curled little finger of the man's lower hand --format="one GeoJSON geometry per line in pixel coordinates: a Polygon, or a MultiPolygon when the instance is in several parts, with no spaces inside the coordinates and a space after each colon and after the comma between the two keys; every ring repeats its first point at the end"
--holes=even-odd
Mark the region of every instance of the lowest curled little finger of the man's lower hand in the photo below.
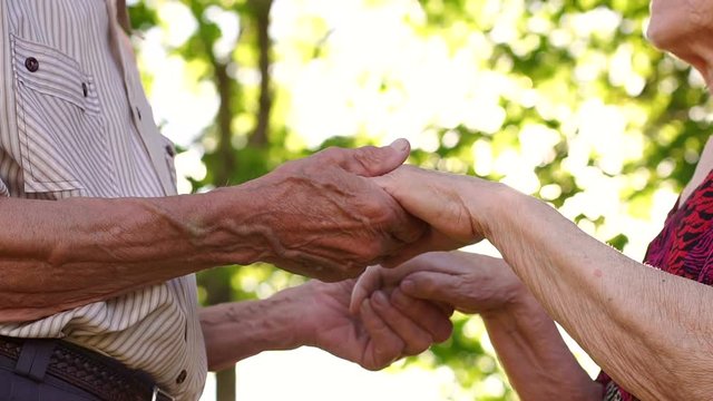
{"type": "Polygon", "coordinates": [[[370,300],[365,300],[359,310],[361,321],[371,338],[364,350],[361,365],[369,370],[379,370],[401,358],[404,343],[389,325],[374,312],[370,300]]]}

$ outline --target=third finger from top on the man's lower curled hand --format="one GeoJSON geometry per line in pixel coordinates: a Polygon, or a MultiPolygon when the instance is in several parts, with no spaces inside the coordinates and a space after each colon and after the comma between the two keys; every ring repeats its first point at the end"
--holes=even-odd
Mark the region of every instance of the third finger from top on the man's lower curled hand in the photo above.
{"type": "Polygon", "coordinates": [[[416,355],[431,346],[433,343],[431,334],[393,306],[383,292],[377,291],[371,295],[370,300],[377,314],[403,341],[404,354],[416,355]]]}

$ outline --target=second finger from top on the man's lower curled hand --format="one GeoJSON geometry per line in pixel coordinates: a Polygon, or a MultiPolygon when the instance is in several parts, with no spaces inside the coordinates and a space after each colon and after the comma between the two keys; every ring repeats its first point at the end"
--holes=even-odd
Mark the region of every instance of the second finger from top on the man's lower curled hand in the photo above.
{"type": "Polygon", "coordinates": [[[391,293],[391,304],[428,332],[434,342],[443,342],[450,338],[453,330],[450,322],[453,313],[451,306],[417,300],[399,288],[391,293]]]}

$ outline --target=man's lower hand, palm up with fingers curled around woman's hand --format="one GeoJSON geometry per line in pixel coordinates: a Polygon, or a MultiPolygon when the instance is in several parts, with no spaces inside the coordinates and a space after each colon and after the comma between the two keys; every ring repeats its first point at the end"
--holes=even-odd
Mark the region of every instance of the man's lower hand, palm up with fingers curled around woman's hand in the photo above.
{"type": "Polygon", "coordinates": [[[312,281],[313,302],[309,317],[307,345],[321,348],[369,370],[379,370],[393,361],[446,341],[451,333],[451,311],[411,299],[399,290],[391,294],[373,292],[359,307],[349,311],[355,280],[340,283],[312,281]]]}

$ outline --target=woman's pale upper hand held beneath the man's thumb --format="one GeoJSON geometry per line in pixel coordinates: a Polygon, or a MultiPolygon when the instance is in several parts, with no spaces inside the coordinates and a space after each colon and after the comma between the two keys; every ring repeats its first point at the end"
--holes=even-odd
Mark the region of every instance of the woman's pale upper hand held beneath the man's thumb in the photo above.
{"type": "Polygon", "coordinates": [[[502,184],[471,176],[401,166],[372,178],[413,216],[429,224],[427,233],[384,265],[399,265],[424,252],[450,251],[484,239],[499,205],[495,195],[502,184]]]}

